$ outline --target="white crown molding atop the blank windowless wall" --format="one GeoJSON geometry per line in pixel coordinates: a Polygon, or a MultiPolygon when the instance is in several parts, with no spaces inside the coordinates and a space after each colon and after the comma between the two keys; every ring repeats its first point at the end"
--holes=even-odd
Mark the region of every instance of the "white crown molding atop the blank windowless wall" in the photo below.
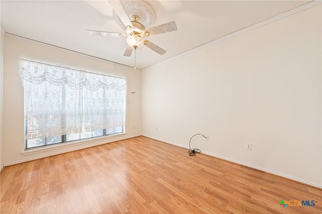
{"type": "Polygon", "coordinates": [[[282,14],[277,15],[277,16],[275,16],[275,17],[272,17],[272,18],[269,18],[269,19],[264,20],[264,21],[262,21],[262,22],[259,22],[259,23],[255,24],[255,25],[251,25],[251,26],[246,27],[246,28],[244,28],[244,29],[241,29],[241,30],[239,30],[239,31],[233,32],[233,33],[231,33],[231,34],[228,34],[228,35],[226,35],[226,36],[223,36],[223,37],[221,37],[221,38],[218,38],[218,39],[216,39],[216,40],[213,40],[213,41],[211,41],[211,42],[208,42],[208,43],[206,43],[206,44],[203,44],[203,45],[201,45],[201,46],[198,46],[198,47],[196,47],[196,48],[193,48],[193,49],[191,49],[191,50],[189,50],[189,51],[183,52],[183,53],[181,53],[181,54],[179,54],[179,55],[176,55],[176,56],[174,56],[174,57],[171,57],[171,58],[169,58],[169,59],[166,59],[166,60],[164,60],[164,61],[161,61],[161,62],[158,62],[158,63],[156,63],[156,64],[153,64],[153,65],[147,66],[147,67],[145,67],[145,68],[142,68],[142,69],[141,69],[141,71],[144,71],[144,70],[146,70],[147,68],[152,68],[152,67],[154,67],[154,66],[157,66],[157,65],[163,64],[163,63],[165,63],[165,62],[169,62],[169,61],[174,60],[174,59],[176,59],[176,58],[179,58],[179,57],[182,57],[182,56],[185,56],[185,55],[191,54],[191,53],[193,53],[193,52],[195,52],[195,51],[198,51],[198,50],[201,50],[201,49],[203,49],[203,48],[209,47],[209,46],[211,46],[211,45],[214,45],[214,44],[216,44],[216,43],[219,43],[219,42],[222,42],[222,41],[224,41],[224,40],[230,39],[230,38],[232,38],[232,37],[238,36],[238,35],[240,35],[240,34],[244,34],[244,33],[248,32],[248,31],[251,31],[251,30],[257,29],[257,28],[262,27],[262,26],[264,26],[264,25],[268,25],[268,24],[270,24],[270,23],[272,23],[272,22],[275,22],[275,21],[278,21],[278,20],[280,20],[280,19],[284,19],[284,18],[286,18],[286,17],[288,17],[288,16],[291,16],[291,15],[297,14],[297,13],[299,13],[299,12],[305,11],[305,10],[307,10],[307,9],[313,8],[313,7],[315,7],[315,6],[318,6],[318,5],[320,5],[321,3],[322,3],[322,1],[321,1],[321,0],[315,0],[315,1],[309,2],[309,3],[307,3],[307,4],[305,4],[305,5],[302,5],[302,6],[298,7],[298,8],[294,8],[294,9],[292,9],[292,10],[289,10],[289,11],[285,12],[285,13],[282,13],[282,14]]]}

